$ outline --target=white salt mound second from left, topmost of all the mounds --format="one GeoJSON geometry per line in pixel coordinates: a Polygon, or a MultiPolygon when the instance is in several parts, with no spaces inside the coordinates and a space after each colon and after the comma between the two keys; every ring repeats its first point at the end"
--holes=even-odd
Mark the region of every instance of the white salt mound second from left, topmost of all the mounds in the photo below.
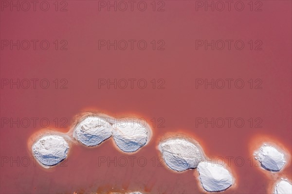
{"type": "Polygon", "coordinates": [[[90,116],[77,124],[74,137],[87,146],[96,146],[110,138],[112,126],[105,118],[90,116]]]}

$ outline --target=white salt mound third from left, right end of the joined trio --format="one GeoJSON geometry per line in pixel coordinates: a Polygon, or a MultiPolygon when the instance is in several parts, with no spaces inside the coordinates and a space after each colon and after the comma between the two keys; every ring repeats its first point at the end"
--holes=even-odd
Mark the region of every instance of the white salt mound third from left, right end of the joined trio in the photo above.
{"type": "Polygon", "coordinates": [[[149,131],[139,123],[119,123],[112,131],[116,145],[124,152],[135,152],[148,141],[149,131]]]}

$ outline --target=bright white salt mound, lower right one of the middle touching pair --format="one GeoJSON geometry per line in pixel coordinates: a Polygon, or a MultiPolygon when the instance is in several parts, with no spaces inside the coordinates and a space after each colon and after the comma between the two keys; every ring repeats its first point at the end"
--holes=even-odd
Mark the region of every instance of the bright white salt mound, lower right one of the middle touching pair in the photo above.
{"type": "Polygon", "coordinates": [[[233,184],[233,178],[228,170],[211,162],[201,162],[198,165],[200,180],[208,192],[224,191],[233,184]]]}

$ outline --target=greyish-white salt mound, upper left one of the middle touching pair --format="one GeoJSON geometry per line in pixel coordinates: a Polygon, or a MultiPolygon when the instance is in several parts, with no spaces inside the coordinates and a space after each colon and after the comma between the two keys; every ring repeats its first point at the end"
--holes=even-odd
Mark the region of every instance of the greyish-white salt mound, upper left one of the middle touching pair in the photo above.
{"type": "Polygon", "coordinates": [[[159,150],[167,166],[175,171],[196,168],[203,160],[198,146],[183,138],[173,138],[159,144],[159,150]]]}

